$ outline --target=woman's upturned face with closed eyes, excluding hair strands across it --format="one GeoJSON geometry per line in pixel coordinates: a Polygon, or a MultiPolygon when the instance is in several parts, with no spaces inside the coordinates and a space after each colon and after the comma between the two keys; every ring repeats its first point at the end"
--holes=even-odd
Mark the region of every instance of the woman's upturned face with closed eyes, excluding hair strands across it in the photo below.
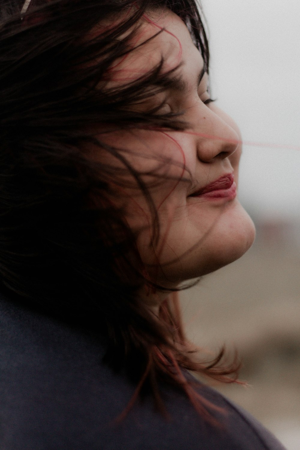
{"type": "MultiPolygon", "coordinates": [[[[152,279],[166,287],[205,275],[241,257],[251,246],[254,225],[237,200],[241,156],[234,121],[209,102],[208,77],[201,54],[184,22],[167,9],[143,18],[134,44],[155,35],[116,62],[112,84],[134,80],[164,58],[163,72],[180,64],[180,81],[164,93],[135,105],[139,110],[166,103],[159,112],[181,112],[185,131],[112,132],[107,141],[125,149],[130,165],[142,173],[158,214],[159,239],[153,244],[153,211],[128,174],[130,187],[118,187],[130,227],[139,229],[138,248],[152,279]],[[151,17],[151,20],[150,20],[151,17]]],[[[134,108],[134,107],[133,107],[134,108]]],[[[101,136],[103,140],[103,135],[101,136]]],[[[119,161],[114,161],[116,167],[119,161]]]]}

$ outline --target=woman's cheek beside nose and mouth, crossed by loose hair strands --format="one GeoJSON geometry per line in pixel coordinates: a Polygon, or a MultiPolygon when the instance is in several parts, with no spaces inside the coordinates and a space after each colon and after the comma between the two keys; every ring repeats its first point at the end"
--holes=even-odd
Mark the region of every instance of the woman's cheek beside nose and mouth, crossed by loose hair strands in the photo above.
{"type": "Polygon", "coordinates": [[[172,209],[175,193],[181,197],[182,190],[186,192],[190,180],[186,155],[171,135],[131,130],[99,135],[99,140],[116,148],[115,156],[106,153],[103,162],[115,169],[111,184],[124,198],[129,216],[151,216],[166,203],[172,209]]]}

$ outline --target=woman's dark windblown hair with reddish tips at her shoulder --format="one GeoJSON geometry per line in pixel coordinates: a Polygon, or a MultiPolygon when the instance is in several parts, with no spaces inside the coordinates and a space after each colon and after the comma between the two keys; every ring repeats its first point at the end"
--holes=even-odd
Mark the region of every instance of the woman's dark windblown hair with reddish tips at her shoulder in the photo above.
{"type": "Polygon", "coordinates": [[[166,87],[162,61],[135,80],[104,87],[113,76],[109,68],[132,51],[139,19],[161,7],[187,24],[208,70],[197,5],[194,0],[31,0],[21,14],[22,5],[23,0],[1,2],[2,289],[28,307],[104,337],[107,364],[126,370],[137,383],[136,395],[151,392],[163,410],[157,383],[164,379],[205,414],[207,405],[181,369],[228,382],[236,364],[220,365],[222,352],[210,362],[196,360],[175,293],[161,305],[158,320],[139,300],[139,287],[154,288],[155,280],[145,276],[136,234],[111,201],[110,181],[121,185],[122,173],[130,171],[152,211],[152,235],[158,236],[155,206],[124,152],[90,132],[96,124],[103,130],[111,125],[185,129],[180,114],[129,108],[166,87]],[[90,157],[90,146],[102,152],[100,161],[90,157]],[[123,172],[116,173],[105,155],[116,157],[123,172]]]}

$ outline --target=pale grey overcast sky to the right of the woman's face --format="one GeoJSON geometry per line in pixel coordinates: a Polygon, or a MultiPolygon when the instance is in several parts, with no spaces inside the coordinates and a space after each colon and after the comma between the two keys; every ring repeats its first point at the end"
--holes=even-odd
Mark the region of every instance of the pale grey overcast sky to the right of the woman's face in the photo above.
{"type": "Polygon", "coordinates": [[[244,145],[239,196],[257,216],[300,221],[300,2],[202,5],[212,96],[238,123],[245,143],[258,143],[244,145]]]}

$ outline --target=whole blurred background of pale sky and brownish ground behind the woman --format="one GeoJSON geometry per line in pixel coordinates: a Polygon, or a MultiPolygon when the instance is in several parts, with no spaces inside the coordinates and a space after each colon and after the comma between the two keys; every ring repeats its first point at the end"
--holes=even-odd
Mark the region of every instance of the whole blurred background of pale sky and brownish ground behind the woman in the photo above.
{"type": "Polygon", "coordinates": [[[181,294],[189,336],[226,343],[249,387],[216,387],[300,450],[300,3],[202,0],[212,97],[244,140],[239,198],[257,238],[181,294]]]}

